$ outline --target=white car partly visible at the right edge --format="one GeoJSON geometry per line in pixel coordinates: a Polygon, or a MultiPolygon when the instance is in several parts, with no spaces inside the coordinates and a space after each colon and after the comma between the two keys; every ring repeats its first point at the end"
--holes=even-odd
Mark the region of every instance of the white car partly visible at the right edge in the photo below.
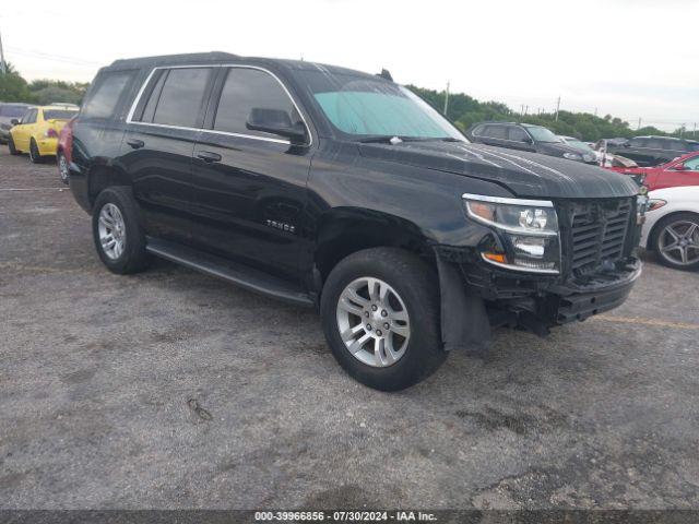
{"type": "Polygon", "coordinates": [[[699,186],[657,189],[648,198],[641,246],[668,267],[699,267],[699,186]]]}

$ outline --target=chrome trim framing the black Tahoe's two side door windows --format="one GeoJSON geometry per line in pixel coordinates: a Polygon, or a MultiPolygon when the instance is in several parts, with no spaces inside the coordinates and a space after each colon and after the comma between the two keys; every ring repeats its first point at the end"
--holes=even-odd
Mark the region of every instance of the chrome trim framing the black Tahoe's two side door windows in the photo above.
{"type": "Polygon", "coordinates": [[[291,145],[292,142],[289,140],[285,140],[285,139],[273,139],[271,136],[258,136],[258,135],[254,135],[254,134],[233,133],[233,132],[229,132],[229,131],[220,131],[217,129],[188,128],[188,127],[181,127],[181,126],[169,126],[169,124],[166,124],[166,123],[139,122],[139,121],[134,121],[133,120],[133,114],[135,112],[135,108],[138,107],[139,103],[141,102],[141,97],[143,96],[143,93],[145,92],[145,88],[150,84],[151,80],[153,79],[153,75],[155,74],[155,72],[157,70],[161,70],[161,69],[194,69],[194,68],[254,69],[254,70],[258,70],[258,71],[262,71],[264,73],[268,73],[270,76],[272,76],[274,80],[276,80],[276,82],[282,86],[282,90],[284,90],[284,93],[286,94],[286,96],[288,96],[288,99],[292,100],[292,104],[296,108],[296,111],[301,117],[301,121],[304,122],[304,127],[306,128],[306,132],[308,134],[308,143],[299,144],[299,145],[303,145],[304,147],[310,147],[313,144],[313,135],[310,132],[310,127],[308,126],[308,122],[306,121],[306,117],[304,116],[304,112],[301,111],[301,109],[298,106],[298,104],[296,104],[296,100],[294,99],[294,97],[292,96],[289,91],[286,88],[286,85],[284,85],[284,82],[282,82],[280,80],[280,78],[276,74],[274,74],[272,71],[270,71],[269,69],[261,68],[259,66],[250,66],[250,64],[246,64],[246,63],[197,63],[197,64],[188,64],[188,66],[158,66],[158,67],[155,67],[155,68],[153,68],[151,70],[151,72],[146,76],[145,81],[141,85],[141,88],[139,90],[139,93],[137,94],[135,98],[133,99],[133,104],[131,104],[131,109],[129,109],[129,114],[127,116],[126,123],[132,123],[132,124],[138,124],[138,126],[150,126],[150,127],[154,127],[154,128],[178,129],[178,130],[182,130],[182,131],[200,131],[200,132],[204,132],[204,133],[223,134],[223,135],[226,135],[226,136],[237,136],[237,138],[242,138],[242,139],[260,140],[260,141],[263,141],[263,142],[274,142],[274,143],[277,143],[277,144],[289,144],[291,145]]]}

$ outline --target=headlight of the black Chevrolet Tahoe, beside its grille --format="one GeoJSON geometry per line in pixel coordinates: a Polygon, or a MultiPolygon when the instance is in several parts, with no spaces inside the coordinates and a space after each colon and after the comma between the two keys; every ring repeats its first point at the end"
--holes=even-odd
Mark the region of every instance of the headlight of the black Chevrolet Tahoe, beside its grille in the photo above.
{"type": "Polygon", "coordinates": [[[499,245],[481,246],[484,260],[510,270],[559,273],[558,216],[552,202],[467,193],[463,199],[471,218],[499,234],[499,245]]]}

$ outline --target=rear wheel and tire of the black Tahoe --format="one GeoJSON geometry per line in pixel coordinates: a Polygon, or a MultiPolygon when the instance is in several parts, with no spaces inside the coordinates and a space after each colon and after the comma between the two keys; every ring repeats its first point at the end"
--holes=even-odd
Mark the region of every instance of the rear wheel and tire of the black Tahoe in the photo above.
{"type": "Polygon", "coordinates": [[[116,186],[97,195],[92,231],[97,254],[112,273],[138,273],[146,267],[145,236],[130,188],[116,186]],[[104,245],[102,238],[105,239],[104,245]],[[121,248],[118,249],[118,246],[121,248]]]}

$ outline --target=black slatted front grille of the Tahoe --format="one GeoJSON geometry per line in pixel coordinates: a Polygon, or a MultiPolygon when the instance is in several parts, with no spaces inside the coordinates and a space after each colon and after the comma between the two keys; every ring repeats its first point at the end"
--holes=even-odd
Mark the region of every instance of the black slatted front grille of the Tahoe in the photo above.
{"type": "MultiPolygon", "coordinates": [[[[621,260],[633,199],[608,199],[565,206],[569,267],[574,275],[593,273],[621,260]]],[[[565,249],[565,248],[564,248],[565,249]]]]}

